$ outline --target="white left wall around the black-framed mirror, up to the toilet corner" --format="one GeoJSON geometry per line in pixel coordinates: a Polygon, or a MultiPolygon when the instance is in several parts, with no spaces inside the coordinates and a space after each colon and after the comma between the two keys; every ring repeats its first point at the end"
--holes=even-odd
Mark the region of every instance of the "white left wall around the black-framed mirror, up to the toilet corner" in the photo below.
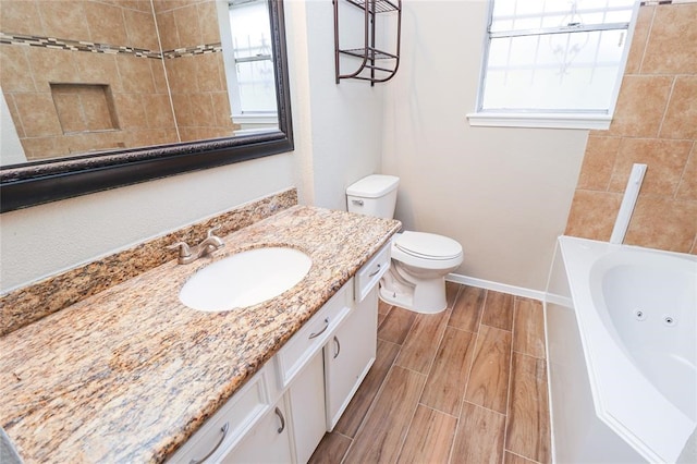
{"type": "Polygon", "coordinates": [[[382,90],[334,84],[329,0],[286,0],[295,151],[0,216],[0,292],[23,286],[291,186],[344,209],[344,188],[380,167],[382,90]]]}

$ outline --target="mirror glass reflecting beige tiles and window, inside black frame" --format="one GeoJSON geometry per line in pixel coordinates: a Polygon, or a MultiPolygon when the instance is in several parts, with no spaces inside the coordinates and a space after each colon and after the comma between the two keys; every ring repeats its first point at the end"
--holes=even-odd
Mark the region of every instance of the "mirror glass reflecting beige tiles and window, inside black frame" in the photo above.
{"type": "Polygon", "coordinates": [[[0,0],[2,166],[277,127],[269,12],[236,3],[0,0]]]}

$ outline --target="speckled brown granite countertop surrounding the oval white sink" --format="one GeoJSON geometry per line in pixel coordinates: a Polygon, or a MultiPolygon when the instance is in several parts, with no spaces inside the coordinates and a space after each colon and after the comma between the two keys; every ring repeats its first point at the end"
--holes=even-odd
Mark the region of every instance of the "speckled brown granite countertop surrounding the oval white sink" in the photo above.
{"type": "Polygon", "coordinates": [[[0,338],[0,426],[26,463],[162,462],[400,228],[295,206],[0,338]],[[313,267],[266,303],[201,313],[179,301],[197,269],[261,246],[313,267]]]}

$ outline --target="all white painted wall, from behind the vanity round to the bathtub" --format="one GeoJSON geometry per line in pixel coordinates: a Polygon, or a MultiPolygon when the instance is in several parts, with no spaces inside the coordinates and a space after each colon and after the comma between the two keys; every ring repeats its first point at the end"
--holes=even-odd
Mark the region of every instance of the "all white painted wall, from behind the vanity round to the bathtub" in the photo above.
{"type": "Polygon", "coordinates": [[[394,80],[337,85],[331,1],[288,1],[295,151],[4,213],[1,289],[292,185],[343,209],[345,187],[380,171],[402,178],[407,228],[463,244],[458,273],[543,289],[587,133],[469,127],[485,14],[485,0],[405,0],[394,80]]]}

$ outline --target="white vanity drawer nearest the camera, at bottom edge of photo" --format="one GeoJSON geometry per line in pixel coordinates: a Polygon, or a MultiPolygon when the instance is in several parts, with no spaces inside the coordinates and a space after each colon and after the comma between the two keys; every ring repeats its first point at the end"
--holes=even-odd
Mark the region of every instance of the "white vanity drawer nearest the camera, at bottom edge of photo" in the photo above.
{"type": "Polygon", "coordinates": [[[262,367],[212,417],[210,417],[186,443],[170,459],[170,463],[188,464],[218,462],[271,406],[267,376],[272,374],[262,367]]]}

